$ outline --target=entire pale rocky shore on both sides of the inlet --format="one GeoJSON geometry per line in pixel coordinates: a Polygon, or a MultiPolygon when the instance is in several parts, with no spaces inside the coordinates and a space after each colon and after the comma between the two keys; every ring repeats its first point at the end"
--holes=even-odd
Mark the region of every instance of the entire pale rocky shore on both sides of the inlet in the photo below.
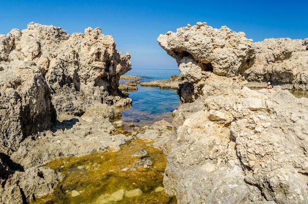
{"type": "MultiPolygon", "coordinates": [[[[163,150],[164,190],[179,204],[308,203],[308,99],[281,89],[308,89],[308,40],[253,43],[206,23],[157,40],[180,77],[140,85],[178,88],[182,104],[172,124],[127,133],[118,108],[131,99],[120,89],[138,82],[119,86],[130,55],[111,36],[34,23],[0,35],[0,203],[52,195],[64,175],[42,165],[56,158],[117,151],[134,139],[163,150]],[[281,87],[247,87],[267,81],[281,87]]],[[[98,202],[111,197],[103,196],[98,202]]]]}

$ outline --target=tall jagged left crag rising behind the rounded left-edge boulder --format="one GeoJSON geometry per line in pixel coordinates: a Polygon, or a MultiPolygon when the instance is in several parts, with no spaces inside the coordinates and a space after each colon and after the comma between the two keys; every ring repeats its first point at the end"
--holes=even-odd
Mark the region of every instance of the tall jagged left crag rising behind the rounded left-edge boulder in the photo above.
{"type": "Polygon", "coordinates": [[[114,39],[99,28],[69,35],[60,27],[30,23],[28,29],[1,35],[0,42],[1,65],[16,60],[37,64],[58,113],[78,115],[93,99],[117,103],[112,96],[121,94],[120,76],[131,69],[130,55],[119,53],[114,39]]]}

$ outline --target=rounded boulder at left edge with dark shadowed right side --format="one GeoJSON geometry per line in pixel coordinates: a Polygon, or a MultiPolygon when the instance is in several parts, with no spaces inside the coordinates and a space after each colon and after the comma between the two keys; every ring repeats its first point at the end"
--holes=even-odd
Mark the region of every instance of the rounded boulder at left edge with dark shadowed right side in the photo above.
{"type": "Polygon", "coordinates": [[[0,64],[0,149],[16,150],[29,135],[56,121],[50,89],[32,61],[0,64]]]}

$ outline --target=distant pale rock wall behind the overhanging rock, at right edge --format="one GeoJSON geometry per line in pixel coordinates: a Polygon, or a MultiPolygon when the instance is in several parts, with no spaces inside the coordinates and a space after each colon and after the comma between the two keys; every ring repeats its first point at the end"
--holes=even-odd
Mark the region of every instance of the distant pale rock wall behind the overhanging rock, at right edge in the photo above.
{"type": "Polygon", "coordinates": [[[272,38],[254,46],[255,62],[244,73],[249,82],[271,81],[285,88],[308,89],[307,39],[272,38]]]}

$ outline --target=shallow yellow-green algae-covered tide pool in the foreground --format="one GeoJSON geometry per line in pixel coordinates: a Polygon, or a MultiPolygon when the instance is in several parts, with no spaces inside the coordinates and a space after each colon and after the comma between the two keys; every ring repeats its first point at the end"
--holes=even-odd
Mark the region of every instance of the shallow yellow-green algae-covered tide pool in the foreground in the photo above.
{"type": "Polygon", "coordinates": [[[34,204],[103,204],[105,196],[120,190],[140,189],[143,194],[138,197],[111,201],[109,204],[176,204],[175,198],[168,197],[164,191],[155,192],[162,187],[166,158],[162,151],[152,147],[151,142],[135,140],[117,152],[93,153],[82,157],[57,159],[48,163],[47,167],[65,175],[56,192],[34,204]],[[131,154],[142,148],[149,150],[153,165],[140,168],[138,171],[122,171],[131,168],[139,158],[131,154]],[[80,192],[72,197],[72,191],[80,192]]]}

